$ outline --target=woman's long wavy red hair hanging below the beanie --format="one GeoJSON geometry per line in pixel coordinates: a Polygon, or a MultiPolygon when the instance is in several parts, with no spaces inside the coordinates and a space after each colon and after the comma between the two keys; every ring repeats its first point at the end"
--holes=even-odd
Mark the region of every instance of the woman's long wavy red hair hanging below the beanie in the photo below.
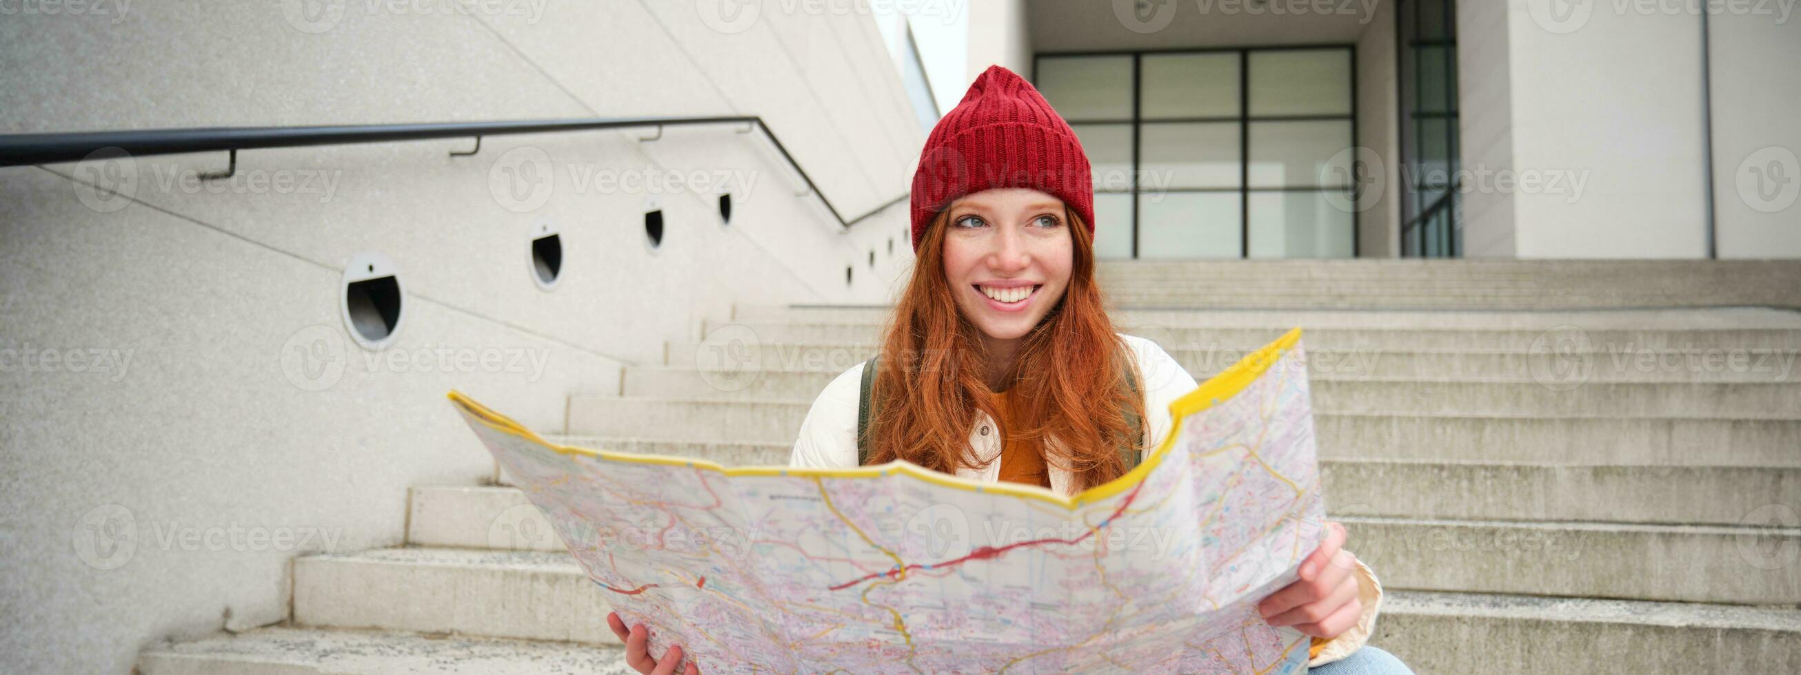
{"type": "MultiPolygon", "coordinates": [[[[956,310],[944,272],[940,211],[920,238],[906,292],[888,319],[881,373],[872,398],[870,463],[893,459],[955,473],[980,468],[969,452],[976,410],[1003,419],[989,391],[987,342],[956,310]]],[[[1081,218],[1064,209],[1073,239],[1070,284],[1063,299],[1019,344],[1005,374],[1021,427],[1009,439],[1037,441],[1045,463],[1072,472],[1073,490],[1113,481],[1126,472],[1120,446],[1144,450],[1124,410],[1144,419],[1144,400],[1124,383],[1131,349],[1113,331],[1106,299],[1095,284],[1093,239],[1081,218]]]]}

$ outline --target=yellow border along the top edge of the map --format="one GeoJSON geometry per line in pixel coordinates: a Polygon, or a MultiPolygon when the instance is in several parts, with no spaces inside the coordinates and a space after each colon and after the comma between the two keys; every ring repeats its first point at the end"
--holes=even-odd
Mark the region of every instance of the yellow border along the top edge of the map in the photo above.
{"type": "Polygon", "coordinates": [[[1246,355],[1237,364],[1232,364],[1232,367],[1228,367],[1228,369],[1221,371],[1219,374],[1216,374],[1216,376],[1208,378],[1207,382],[1203,382],[1192,392],[1178,398],[1174,403],[1169,405],[1169,414],[1171,414],[1171,419],[1174,421],[1172,427],[1171,427],[1171,430],[1169,430],[1169,436],[1163,437],[1163,443],[1160,443],[1156,446],[1156,450],[1151,452],[1149,457],[1145,457],[1142,463],[1138,463],[1138,466],[1133,468],[1131,472],[1126,472],[1126,475],[1120,475],[1118,479],[1113,479],[1113,481],[1108,481],[1104,484],[1082,490],[1081,493],[1072,495],[1072,497],[1061,497],[1061,495],[1057,495],[1057,493],[1054,493],[1054,491],[1050,491],[1046,488],[1037,488],[1037,486],[1012,484],[1012,482],[982,482],[982,481],[964,479],[964,477],[958,477],[958,475],[938,473],[938,472],[928,470],[924,466],[919,466],[919,464],[913,464],[913,463],[906,463],[906,461],[899,461],[899,459],[895,459],[891,463],[886,463],[886,464],[857,466],[857,468],[722,466],[722,464],[710,463],[710,461],[704,461],[704,459],[668,457],[668,455],[641,455],[641,454],[630,454],[630,452],[576,448],[576,446],[569,446],[569,445],[558,445],[558,443],[546,441],[544,437],[540,437],[538,434],[531,432],[524,425],[513,421],[511,418],[508,418],[504,414],[493,412],[486,405],[475,403],[468,396],[463,396],[463,392],[459,392],[459,391],[450,391],[448,396],[450,396],[450,401],[454,405],[457,405],[465,412],[472,414],[475,419],[479,419],[481,423],[488,425],[490,428],[504,432],[504,434],[513,434],[513,436],[524,437],[528,441],[533,441],[537,445],[542,445],[546,448],[557,450],[558,454],[566,454],[566,455],[589,455],[589,457],[600,457],[600,459],[616,461],[616,463],[693,466],[693,468],[704,468],[704,470],[719,472],[719,473],[724,473],[724,475],[798,475],[798,477],[857,479],[857,477],[888,475],[891,472],[891,473],[900,473],[900,475],[911,475],[915,479],[920,479],[920,481],[926,481],[926,482],[933,482],[933,484],[940,484],[940,486],[947,486],[947,488],[960,488],[960,490],[971,490],[971,491],[989,491],[989,493],[1001,493],[1001,495],[1012,495],[1012,497],[1036,499],[1036,500],[1050,502],[1050,504],[1063,506],[1063,508],[1073,511],[1075,508],[1079,508],[1079,506],[1082,506],[1086,502],[1095,502],[1095,500],[1100,500],[1100,499],[1108,499],[1108,497],[1118,495],[1118,493],[1122,493],[1126,490],[1131,490],[1140,481],[1144,481],[1144,477],[1149,475],[1151,470],[1154,470],[1156,464],[1160,464],[1163,461],[1163,457],[1169,454],[1169,448],[1172,448],[1176,445],[1176,437],[1181,432],[1181,419],[1183,418],[1187,418],[1190,414],[1196,414],[1196,412],[1201,412],[1201,410],[1207,410],[1207,409],[1217,405],[1223,400],[1237,396],[1237,392],[1244,391],[1246,385],[1250,385],[1252,382],[1257,380],[1257,376],[1261,376],[1264,371],[1268,371],[1270,364],[1275,364],[1288,349],[1293,349],[1293,346],[1297,342],[1300,342],[1300,328],[1290,329],[1286,335],[1282,335],[1275,342],[1270,342],[1263,349],[1257,349],[1257,351],[1246,355]]]}

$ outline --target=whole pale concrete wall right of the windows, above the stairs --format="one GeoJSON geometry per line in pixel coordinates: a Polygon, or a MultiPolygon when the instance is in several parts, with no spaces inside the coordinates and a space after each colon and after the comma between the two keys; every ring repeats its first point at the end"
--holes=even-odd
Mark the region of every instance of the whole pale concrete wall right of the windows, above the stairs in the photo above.
{"type": "Polygon", "coordinates": [[[1801,256],[1801,180],[1751,187],[1801,171],[1801,27],[1779,4],[1724,7],[1709,176],[1689,4],[1461,2],[1466,256],[1707,257],[1709,191],[1720,257],[1801,256]]]}

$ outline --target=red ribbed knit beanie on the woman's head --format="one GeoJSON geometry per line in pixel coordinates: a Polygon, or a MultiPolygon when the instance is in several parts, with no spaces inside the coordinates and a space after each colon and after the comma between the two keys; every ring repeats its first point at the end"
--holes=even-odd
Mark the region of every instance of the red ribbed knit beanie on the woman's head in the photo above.
{"type": "Polygon", "coordinates": [[[983,70],[926,137],[913,173],[913,252],[951,200],[992,187],[1055,194],[1082,218],[1090,238],[1095,234],[1088,153],[1032,83],[998,65],[983,70]]]}

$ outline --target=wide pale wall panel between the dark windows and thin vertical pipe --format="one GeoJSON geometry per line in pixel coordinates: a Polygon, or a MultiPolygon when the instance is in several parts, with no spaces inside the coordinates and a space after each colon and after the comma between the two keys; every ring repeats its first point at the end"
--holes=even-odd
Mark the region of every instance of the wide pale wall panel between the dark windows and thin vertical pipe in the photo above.
{"type": "Polygon", "coordinates": [[[1525,5],[1507,22],[1518,256],[1706,257],[1700,18],[1596,4],[1554,32],[1525,5]]]}

